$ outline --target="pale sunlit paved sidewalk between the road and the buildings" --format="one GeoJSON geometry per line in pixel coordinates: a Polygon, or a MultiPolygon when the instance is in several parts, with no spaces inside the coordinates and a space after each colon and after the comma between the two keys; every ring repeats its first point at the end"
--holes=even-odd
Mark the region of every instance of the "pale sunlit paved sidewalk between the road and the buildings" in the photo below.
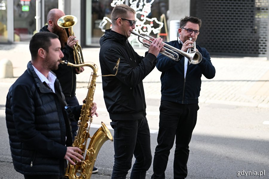
{"type": "MultiPolygon", "coordinates": [[[[147,49],[136,49],[144,55],[147,49]]],[[[99,48],[83,48],[84,61],[91,61],[100,68],[99,48]]],[[[13,64],[14,78],[2,78],[1,83],[12,84],[26,69],[30,61],[28,44],[0,44],[0,60],[9,59],[13,64]]],[[[269,61],[265,57],[212,57],[216,69],[213,79],[202,77],[200,103],[225,104],[269,108],[269,61]]],[[[87,87],[91,70],[77,75],[77,88],[87,87]]],[[[101,74],[101,70],[98,70],[101,74]]],[[[148,99],[160,99],[161,82],[156,68],[143,80],[148,99]]],[[[97,78],[101,83],[102,78],[97,78]]],[[[102,93],[102,92],[101,92],[102,93]]]]}

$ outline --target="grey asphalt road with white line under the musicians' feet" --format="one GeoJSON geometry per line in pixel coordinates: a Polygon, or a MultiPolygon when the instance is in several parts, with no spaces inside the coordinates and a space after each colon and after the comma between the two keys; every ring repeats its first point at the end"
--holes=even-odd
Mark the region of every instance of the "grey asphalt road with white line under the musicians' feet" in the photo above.
{"type": "MultiPolygon", "coordinates": [[[[157,101],[147,100],[149,104],[157,101]]],[[[268,108],[236,107],[218,104],[199,104],[198,121],[189,145],[187,179],[232,179],[232,178],[269,178],[269,125],[268,108]],[[239,173],[238,173],[239,172],[239,173]],[[246,173],[247,172],[247,173],[246,173]],[[261,176],[256,176],[261,175],[261,176]],[[238,176],[240,175],[240,176],[238,176]]],[[[149,105],[153,109],[153,105],[149,105]]],[[[106,121],[106,112],[99,111],[95,123],[106,121]]],[[[147,116],[152,130],[151,149],[154,155],[157,145],[157,113],[148,112],[147,116]]],[[[109,127],[109,123],[105,122],[109,127]]],[[[0,105],[0,178],[23,178],[13,169],[9,141],[5,124],[4,105],[0,105]]],[[[97,128],[91,128],[94,133],[97,128]]],[[[111,131],[113,135],[113,131],[111,131]]],[[[173,154],[171,150],[166,169],[166,178],[173,178],[173,154]]],[[[99,172],[92,179],[111,177],[113,167],[113,142],[106,141],[100,149],[95,166],[99,172]]],[[[146,178],[152,175],[152,166],[146,178]]],[[[130,175],[127,175],[129,178],[130,175]]]]}

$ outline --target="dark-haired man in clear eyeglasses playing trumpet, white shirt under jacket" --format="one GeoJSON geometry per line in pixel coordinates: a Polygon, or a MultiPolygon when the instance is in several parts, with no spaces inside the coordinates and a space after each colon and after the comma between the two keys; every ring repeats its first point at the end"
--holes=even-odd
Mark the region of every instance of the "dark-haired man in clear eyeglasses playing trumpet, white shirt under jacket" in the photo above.
{"type": "Polygon", "coordinates": [[[202,21],[186,16],[180,20],[180,36],[167,44],[189,53],[193,49],[199,52],[201,59],[194,64],[179,54],[174,61],[162,54],[157,57],[156,67],[161,74],[160,121],[153,159],[152,179],[164,179],[170,150],[175,141],[174,178],[187,177],[189,142],[197,121],[198,97],[201,90],[201,77],[215,76],[215,67],[205,48],[196,45],[202,21]]]}

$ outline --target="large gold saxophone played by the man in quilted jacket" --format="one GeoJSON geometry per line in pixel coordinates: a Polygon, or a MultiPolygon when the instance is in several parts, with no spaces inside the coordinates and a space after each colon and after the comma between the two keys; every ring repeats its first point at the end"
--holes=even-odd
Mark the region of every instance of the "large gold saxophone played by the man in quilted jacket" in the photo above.
{"type": "MultiPolygon", "coordinates": [[[[73,142],[74,147],[78,147],[82,150],[83,159],[82,162],[78,162],[76,165],[68,163],[65,176],[69,179],[90,179],[94,163],[96,161],[97,154],[102,147],[103,143],[107,140],[113,141],[113,137],[109,132],[106,125],[102,122],[102,126],[90,136],[90,126],[92,122],[91,108],[93,105],[93,96],[95,90],[95,82],[97,78],[97,66],[94,63],[86,62],[83,64],[72,64],[68,61],[61,61],[60,63],[66,64],[71,67],[91,67],[93,70],[91,74],[91,80],[88,84],[88,93],[85,98],[82,109],[80,113],[80,119],[78,121],[78,132],[75,140],[73,142]],[[89,144],[87,143],[88,139],[91,139],[89,144]],[[87,147],[88,144],[88,147],[87,147]]],[[[73,159],[73,161],[76,163],[73,159]]]]}

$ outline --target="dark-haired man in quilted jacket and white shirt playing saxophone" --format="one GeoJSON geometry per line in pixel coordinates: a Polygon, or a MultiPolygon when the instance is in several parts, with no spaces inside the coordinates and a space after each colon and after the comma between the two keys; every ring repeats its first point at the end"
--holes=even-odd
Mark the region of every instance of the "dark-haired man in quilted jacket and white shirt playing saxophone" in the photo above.
{"type": "MultiPolygon", "coordinates": [[[[82,151],[72,147],[70,119],[57,70],[63,58],[54,33],[39,32],[30,40],[31,61],[10,87],[6,101],[6,124],[13,165],[25,179],[59,179],[66,160],[80,162],[82,151]]],[[[95,104],[94,104],[95,105],[95,104]]],[[[96,109],[96,106],[95,108],[96,109]]],[[[70,107],[75,119],[81,106],[70,107]]],[[[96,110],[92,110],[94,115],[96,110]]]]}

